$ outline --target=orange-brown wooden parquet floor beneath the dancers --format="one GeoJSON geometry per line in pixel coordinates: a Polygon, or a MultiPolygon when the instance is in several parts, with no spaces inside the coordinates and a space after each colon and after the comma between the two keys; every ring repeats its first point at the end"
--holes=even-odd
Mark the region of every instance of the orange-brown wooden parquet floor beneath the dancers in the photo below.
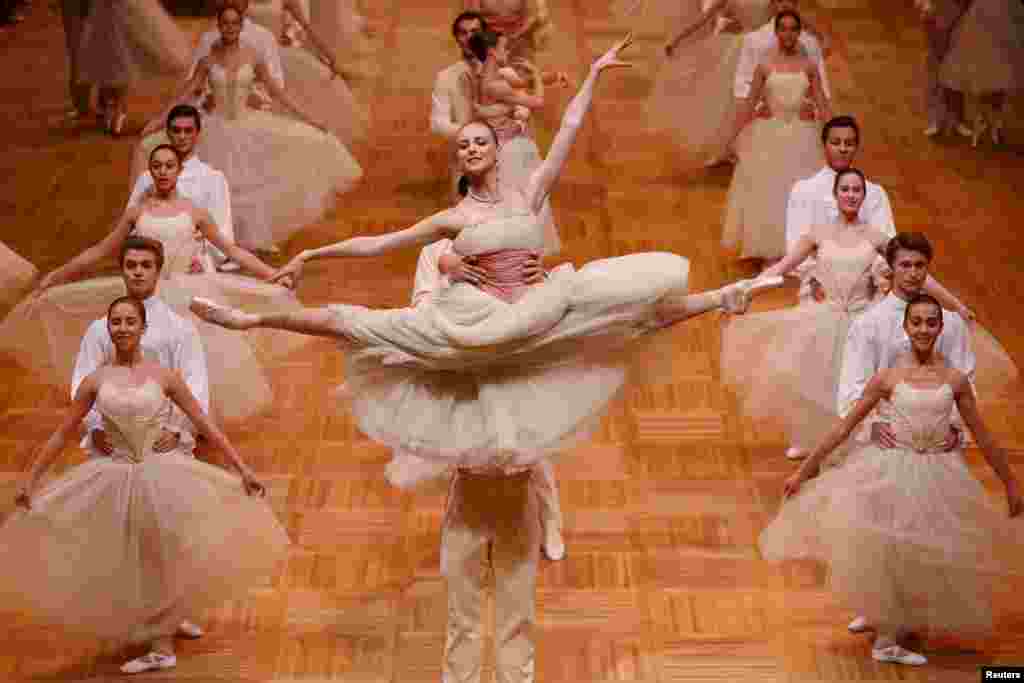
{"type": "MultiPolygon", "coordinates": [[[[112,141],[61,123],[63,37],[58,17],[35,1],[26,24],[0,34],[0,239],[45,271],[110,228],[126,199],[134,139],[112,141]]],[[[379,74],[356,87],[374,112],[370,142],[357,150],[367,178],[332,217],[289,244],[288,254],[408,225],[441,206],[442,156],[427,112],[435,73],[456,58],[447,33],[455,3],[372,4],[382,27],[379,74]]],[[[606,4],[551,0],[557,33],[547,63],[583,75],[624,33],[606,4]]],[[[924,138],[924,40],[909,5],[827,0],[817,8],[837,37],[829,59],[837,112],[863,122],[858,165],[888,188],[897,225],[929,233],[938,249],[936,274],[1022,364],[1024,316],[1016,297],[1024,294],[1024,124],[1010,118],[1014,142],[999,150],[924,138]]],[[[207,20],[182,25],[198,33],[207,20]]],[[[635,68],[604,78],[554,203],[567,259],[672,250],[692,260],[691,287],[701,290],[752,271],[718,246],[728,170],[681,168],[665,140],[644,129],[660,30],[641,22],[635,68]]],[[[130,128],[158,110],[159,95],[132,97],[130,128]]],[[[542,145],[567,98],[551,97],[541,117],[542,145]]],[[[404,253],[317,264],[300,297],[309,304],[401,305],[415,262],[415,253],[404,253]]],[[[791,288],[757,307],[794,297],[791,288]]],[[[1024,665],[1024,601],[1016,598],[1024,584],[997,587],[995,637],[931,641],[931,664],[908,669],[873,663],[868,640],[846,632],[853,614],[824,590],[820,568],[760,559],[758,533],[777,509],[792,466],[781,435],[744,424],[720,385],[720,326],[706,316],[677,329],[671,383],[633,391],[591,442],[559,462],[568,557],[542,566],[537,679],[967,682],[978,680],[982,664],[1024,665]]],[[[229,434],[269,482],[294,550],[248,600],[206,615],[208,635],[180,645],[176,670],[146,678],[438,681],[443,490],[411,495],[387,486],[386,452],[337,410],[332,390],[342,371],[330,343],[317,342],[273,375],[273,412],[229,434]]],[[[66,398],[10,366],[0,377],[0,472],[12,480],[55,427],[66,398]]],[[[984,410],[1024,475],[1021,399],[988,400],[984,410]]],[[[61,466],[80,459],[69,453],[61,466]]],[[[970,461],[998,494],[980,456],[972,452],[970,461]]],[[[0,681],[115,680],[118,665],[135,653],[17,621],[0,625],[0,681]]]]}

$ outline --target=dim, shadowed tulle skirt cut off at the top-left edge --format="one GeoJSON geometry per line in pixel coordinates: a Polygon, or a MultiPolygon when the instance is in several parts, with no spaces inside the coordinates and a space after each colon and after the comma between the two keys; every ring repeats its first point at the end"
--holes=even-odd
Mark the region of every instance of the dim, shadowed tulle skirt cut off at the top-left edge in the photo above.
{"type": "Polygon", "coordinates": [[[79,77],[127,86],[188,68],[188,40],[156,0],[96,0],[82,28],[79,77]]]}

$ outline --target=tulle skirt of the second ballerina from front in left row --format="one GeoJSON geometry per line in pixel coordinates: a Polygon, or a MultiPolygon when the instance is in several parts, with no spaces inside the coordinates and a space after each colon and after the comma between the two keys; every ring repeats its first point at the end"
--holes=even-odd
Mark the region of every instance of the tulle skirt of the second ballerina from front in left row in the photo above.
{"type": "MultiPolygon", "coordinates": [[[[18,304],[0,323],[0,353],[56,386],[71,386],[82,338],[111,302],[126,294],[121,278],[97,278],[47,290],[18,304]]],[[[273,396],[265,368],[307,343],[299,335],[272,330],[232,332],[196,317],[194,296],[255,312],[299,310],[295,295],[276,285],[224,273],[173,275],[160,282],[157,296],[199,331],[210,383],[213,414],[239,422],[267,411],[273,396]]]]}

